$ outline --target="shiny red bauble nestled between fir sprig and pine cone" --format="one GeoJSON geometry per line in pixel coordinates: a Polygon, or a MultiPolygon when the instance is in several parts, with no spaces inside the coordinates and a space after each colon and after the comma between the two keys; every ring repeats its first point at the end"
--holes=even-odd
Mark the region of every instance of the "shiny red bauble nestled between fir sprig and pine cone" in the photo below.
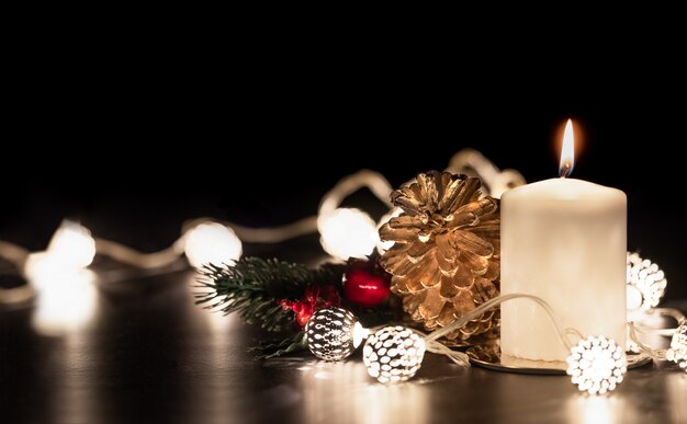
{"type": "Polygon", "coordinates": [[[351,303],[374,308],[388,296],[391,275],[378,260],[351,260],[344,274],[344,291],[351,303]]]}

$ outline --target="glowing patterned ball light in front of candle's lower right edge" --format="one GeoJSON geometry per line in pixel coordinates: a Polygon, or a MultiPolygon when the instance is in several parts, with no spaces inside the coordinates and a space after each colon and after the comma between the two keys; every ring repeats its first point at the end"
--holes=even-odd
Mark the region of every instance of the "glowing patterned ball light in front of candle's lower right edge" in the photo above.
{"type": "Polygon", "coordinates": [[[622,382],[628,370],[624,346],[604,336],[581,340],[567,357],[567,375],[579,391],[604,394],[622,382]]]}

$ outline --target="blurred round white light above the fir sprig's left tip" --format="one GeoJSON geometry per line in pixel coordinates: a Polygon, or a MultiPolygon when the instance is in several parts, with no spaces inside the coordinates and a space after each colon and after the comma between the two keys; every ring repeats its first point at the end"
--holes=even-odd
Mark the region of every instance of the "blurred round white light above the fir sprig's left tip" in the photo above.
{"type": "Polygon", "coordinates": [[[234,230],[218,222],[200,224],[185,233],[184,253],[193,267],[222,265],[241,257],[243,245],[234,230]]]}

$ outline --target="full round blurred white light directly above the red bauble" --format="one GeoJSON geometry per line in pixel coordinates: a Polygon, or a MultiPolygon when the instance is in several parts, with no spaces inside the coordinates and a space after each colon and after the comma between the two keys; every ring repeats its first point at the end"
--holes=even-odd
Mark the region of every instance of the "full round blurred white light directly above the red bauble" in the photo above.
{"type": "Polygon", "coordinates": [[[376,225],[360,209],[338,208],[317,218],[324,250],[340,260],[363,257],[380,241],[376,225]]]}

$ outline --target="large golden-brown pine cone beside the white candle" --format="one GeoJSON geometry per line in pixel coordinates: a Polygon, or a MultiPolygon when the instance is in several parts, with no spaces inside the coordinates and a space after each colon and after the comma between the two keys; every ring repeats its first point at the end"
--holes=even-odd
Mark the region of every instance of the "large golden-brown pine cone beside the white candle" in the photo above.
{"type": "MultiPolygon", "coordinates": [[[[498,200],[480,198],[481,182],[430,171],[392,193],[404,213],[382,228],[394,247],[382,255],[392,291],[427,330],[444,326],[499,294],[498,200]]],[[[497,330],[499,310],[486,312],[449,334],[450,340],[497,330]]]]}

